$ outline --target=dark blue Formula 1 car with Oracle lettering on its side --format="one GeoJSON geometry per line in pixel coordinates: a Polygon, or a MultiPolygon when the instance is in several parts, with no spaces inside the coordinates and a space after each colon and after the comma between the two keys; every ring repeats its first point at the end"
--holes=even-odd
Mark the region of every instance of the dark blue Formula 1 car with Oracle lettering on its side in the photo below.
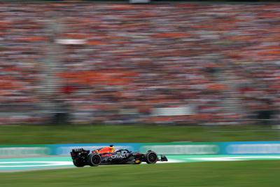
{"type": "Polygon", "coordinates": [[[83,148],[75,148],[71,152],[73,165],[76,167],[84,167],[85,165],[125,165],[125,164],[141,164],[147,162],[148,164],[155,164],[158,161],[168,161],[165,155],[148,151],[146,154],[135,152],[132,153],[127,149],[120,149],[113,153],[97,153],[97,151],[84,150],[83,148]]]}

